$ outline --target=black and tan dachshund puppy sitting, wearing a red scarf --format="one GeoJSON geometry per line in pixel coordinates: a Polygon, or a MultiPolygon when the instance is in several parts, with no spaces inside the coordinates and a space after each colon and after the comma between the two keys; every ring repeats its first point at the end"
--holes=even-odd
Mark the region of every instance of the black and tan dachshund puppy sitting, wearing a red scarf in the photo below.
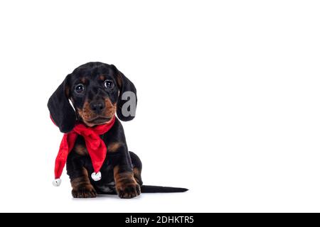
{"type": "MultiPolygon", "coordinates": [[[[108,123],[116,113],[121,121],[130,121],[134,115],[124,116],[122,113],[125,100],[119,97],[124,92],[133,92],[134,103],[137,103],[134,84],[114,65],[89,62],[68,74],[50,97],[48,109],[63,133],[73,130],[78,121],[89,127],[108,123]]],[[[118,118],[110,131],[101,136],[107,145],[107,157],[100,169],[103,176],[100,181],[95,182],[88,175],[88,172],[93,172],[93,167],[85,140],[79,135],[75,141],[67,160],[73,197],[89,198],[97,194],[117,193],[120,198],[133,198],[140,192],[186,192],[187,189],[183,188],[142,185],[142,162],[128,150],[118,118]]]]}

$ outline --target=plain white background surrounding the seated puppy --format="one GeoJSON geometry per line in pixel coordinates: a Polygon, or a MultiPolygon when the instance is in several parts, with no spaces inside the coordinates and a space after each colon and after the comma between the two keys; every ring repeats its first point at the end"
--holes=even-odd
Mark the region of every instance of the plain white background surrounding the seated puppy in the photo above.
{"type": "Polygon", "coordinates": [[[320,211],[319,1],[1,1],[0,211],[320,211]],[[145,184],[183,194],[72,199],[53,187],[46,107],[75,67],[116,65],[145,184]]]}

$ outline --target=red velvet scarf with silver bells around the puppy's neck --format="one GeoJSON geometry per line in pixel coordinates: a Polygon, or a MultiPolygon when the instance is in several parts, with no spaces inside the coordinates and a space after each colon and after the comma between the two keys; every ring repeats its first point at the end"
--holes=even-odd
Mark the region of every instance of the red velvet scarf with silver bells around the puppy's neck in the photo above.
{"type": "MultiPolygon", "coordinates": [[[[95,170],[93,174],[100,174],[100,168],[102,167],[107,155],[107,147],[105,146],[105,142],[100,138],[100,135],[107,133],[107,131],[109,131],[114,125],[114,121],[115,117],[113,117],[109,123],[92,128],[79,123],[75,128],[73,128],[73,131],[63,135],[63,139],[60,143],[60,149],[55,159],[55,181],[53,182],[55,186],[60,185],[60,176],[63,172],[63,168],[65,167],[65,162],[67,162],[68,154],[73,149],[78,135],[82,135],[82,137],[85,138],[87,152],[91,157],[93,170],[95,170]]],[[[92,179],[94,179],[94,177],[92,177],[92,179]]]]}

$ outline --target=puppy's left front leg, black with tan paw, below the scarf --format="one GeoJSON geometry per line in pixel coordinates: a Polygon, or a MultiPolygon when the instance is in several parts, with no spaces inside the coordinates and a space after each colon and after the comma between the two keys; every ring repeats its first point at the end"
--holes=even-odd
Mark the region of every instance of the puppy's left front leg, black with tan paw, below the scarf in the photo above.
{"type": "Polygon", "coordinates": [[[94,198],[97,196],[90,183],[87,169],[84,167],[83,156],[71,152],[67,160],[67,173],[73,187],[74,198],[94,198]]]}

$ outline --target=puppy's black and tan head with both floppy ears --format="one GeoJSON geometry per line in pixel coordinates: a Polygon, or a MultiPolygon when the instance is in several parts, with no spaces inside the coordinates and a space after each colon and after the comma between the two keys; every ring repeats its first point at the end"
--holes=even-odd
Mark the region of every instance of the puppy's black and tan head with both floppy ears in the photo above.
{"type": "Polygon", "coordinates": [[[71,131],[77,121],[90,127],[108,123],[116,112],[120,120],[130,121],[136,105],[134,84],[117,67],[102,62],[76,68],[48,101],[50,115],[63,133],[71,131]]]}

